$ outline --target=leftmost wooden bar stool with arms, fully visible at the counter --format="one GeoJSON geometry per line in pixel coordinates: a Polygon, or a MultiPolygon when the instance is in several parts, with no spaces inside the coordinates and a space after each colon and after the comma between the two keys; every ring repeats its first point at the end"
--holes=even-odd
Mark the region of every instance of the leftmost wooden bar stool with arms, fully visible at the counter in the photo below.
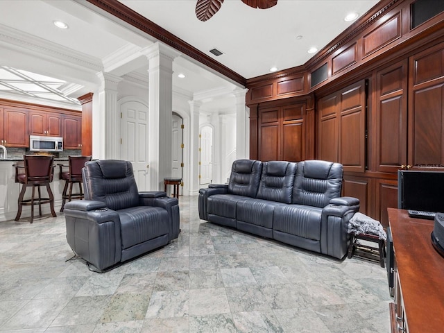
{"type": "Polygon", "coordinates": [[[22,184],[22,191],[19,194],[17,216],[15,221],[19,221],[22,215],[22,207],[24,205],[31,205],[31,223],[34,220],[34,205],[39,205],[39,214],[42,216],[42,204],[49,203],[51,207],[51,214],[56,217],[54,212],[54,196],[49,184],[53,181],[53,155],[24,155],[24,173],[19,173],[19,166],[15,166],[15,182],[22,184]],[[42,198],[40,187],[45,186],[48,191],[48,198],[42,198]],[[24,199],[26,189],[33,187],[31,199],[24,199]],[[35,187],[37,187],[38,198],[35,198],[35,187]]]}

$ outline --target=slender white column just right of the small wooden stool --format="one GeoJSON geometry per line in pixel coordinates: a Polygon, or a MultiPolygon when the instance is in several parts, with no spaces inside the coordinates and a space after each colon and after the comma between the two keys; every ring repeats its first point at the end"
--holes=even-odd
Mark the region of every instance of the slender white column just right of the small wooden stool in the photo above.
{"type": "Polygon", "coordinates": [[[189,126],[189,195],[199,193],[199,108],[202,102],[188,101],[190,110],[189,126]]]}

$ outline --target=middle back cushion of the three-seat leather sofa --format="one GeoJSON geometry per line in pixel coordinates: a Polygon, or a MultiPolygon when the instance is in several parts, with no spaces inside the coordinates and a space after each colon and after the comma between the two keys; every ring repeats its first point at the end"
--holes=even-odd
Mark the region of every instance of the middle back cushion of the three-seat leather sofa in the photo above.
{"type": "Polygon", "coordinates": [[[263,163],[257,198],[291,203],[296,166],[295,162],[286,161],[263,163]]]}

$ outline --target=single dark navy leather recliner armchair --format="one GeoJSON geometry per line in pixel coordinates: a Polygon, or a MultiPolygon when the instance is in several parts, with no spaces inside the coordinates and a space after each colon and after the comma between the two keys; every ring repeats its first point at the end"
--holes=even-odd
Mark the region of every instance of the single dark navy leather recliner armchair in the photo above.
{"type": "Polygon", "coordinates": [[[139,192],[130,162],[86,162],[83,185],[85,200],[65,205],[67,241],[99,271],[178,237],[178,199],[164,191],[139,192]]]}

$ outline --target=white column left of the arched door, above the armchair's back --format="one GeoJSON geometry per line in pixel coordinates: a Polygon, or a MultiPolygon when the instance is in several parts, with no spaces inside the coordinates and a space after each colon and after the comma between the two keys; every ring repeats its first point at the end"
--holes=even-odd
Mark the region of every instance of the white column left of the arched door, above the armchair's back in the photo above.
{"type": "Polygon", "coordinates": [[[92,119],[93,147],[97,152],[94,155],[100,159],[119,160],[120,110],[117,108],[117,85],[122,78],[104,72],[98,73],[97,76],[101,80],[101,86],[98,94],[99,112],[94,112],[92,119]]]}

